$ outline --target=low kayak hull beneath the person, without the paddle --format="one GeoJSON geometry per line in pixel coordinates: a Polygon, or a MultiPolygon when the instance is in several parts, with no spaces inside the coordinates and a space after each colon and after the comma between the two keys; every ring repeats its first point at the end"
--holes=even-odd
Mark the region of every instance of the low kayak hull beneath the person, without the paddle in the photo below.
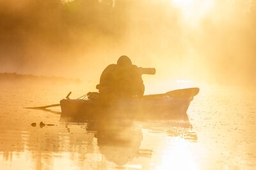
{"type": "Polygon", "coordinates": [[[161,119],[182,118],[186,115],[191,98],[161,100],[120,100],[115,106],[100,106],[97,101],[84,99],[62,99],[61,120],[84,122],[95,120],[102,115],[111,114],[115,118],[161,119]]]}

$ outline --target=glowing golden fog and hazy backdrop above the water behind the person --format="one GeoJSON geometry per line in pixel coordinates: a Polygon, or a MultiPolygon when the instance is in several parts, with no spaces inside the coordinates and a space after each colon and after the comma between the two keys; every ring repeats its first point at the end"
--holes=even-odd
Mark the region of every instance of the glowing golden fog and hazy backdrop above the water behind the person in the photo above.
{"type": "Polygon", "coordinates": [[[256,83],[256,1],[0,1],[0,72],[99,81],[120,55],[146,81],[256,83]]]}

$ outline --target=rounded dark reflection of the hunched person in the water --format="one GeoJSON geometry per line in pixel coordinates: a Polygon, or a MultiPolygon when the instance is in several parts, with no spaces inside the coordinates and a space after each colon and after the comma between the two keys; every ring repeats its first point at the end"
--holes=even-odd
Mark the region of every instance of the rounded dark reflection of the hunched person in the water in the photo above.
{"type": "Polygon", "coordinates": [[[108,120],[108,122],[97,122],[95,138],[100,153],[107,160],[117,166],[124,166],[129,160],[138,157],[143,136],[141,129],[133,127],[130,123],[108,120]]]}

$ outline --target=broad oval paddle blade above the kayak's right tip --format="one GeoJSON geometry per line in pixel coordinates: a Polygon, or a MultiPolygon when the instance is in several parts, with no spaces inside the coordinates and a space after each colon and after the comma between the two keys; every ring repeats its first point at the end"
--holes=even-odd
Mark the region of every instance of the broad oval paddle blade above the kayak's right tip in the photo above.
{"type": "Polygon", "coordinates": [[[188,97],[196,96],[198,92],[199,92],[199,88],[193,87],[188,89],[172,90],[170,92],[166,92],[166,96],[170,96],[173,98],[188,98],[188,97]]]}

